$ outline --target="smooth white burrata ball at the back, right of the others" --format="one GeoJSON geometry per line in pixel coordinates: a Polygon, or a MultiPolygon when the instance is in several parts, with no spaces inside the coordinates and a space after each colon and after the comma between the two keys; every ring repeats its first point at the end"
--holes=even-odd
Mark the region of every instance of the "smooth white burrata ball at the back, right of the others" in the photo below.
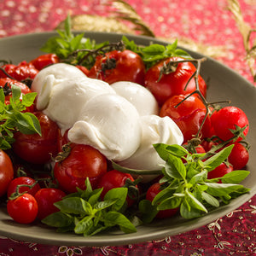
{"type": "Polygon", "coordinates": [[[153,94],[141,84],[120,81],[111,84],[113,90],[131,102],[140,115],[158,114],[159,107],[153,94]]]}

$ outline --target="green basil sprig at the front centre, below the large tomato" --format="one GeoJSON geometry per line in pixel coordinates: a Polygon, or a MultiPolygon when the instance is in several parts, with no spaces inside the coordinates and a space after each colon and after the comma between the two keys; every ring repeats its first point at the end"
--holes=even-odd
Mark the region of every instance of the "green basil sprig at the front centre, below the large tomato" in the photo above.
{"type": "Polygon", "coordinates": [[[122,213],[125,209],[127,188],[111,189],[101,200],[102,189],[91,189],[90,181],[85,181],[86,189],[67,195],[55,202],[59,212],[54,212],[42,222],[58,228],[57,231],[73,231],[84,236],[94,236],[103,230],[118,226],[125,233],[136,232],[136,227],[122,213]]]}

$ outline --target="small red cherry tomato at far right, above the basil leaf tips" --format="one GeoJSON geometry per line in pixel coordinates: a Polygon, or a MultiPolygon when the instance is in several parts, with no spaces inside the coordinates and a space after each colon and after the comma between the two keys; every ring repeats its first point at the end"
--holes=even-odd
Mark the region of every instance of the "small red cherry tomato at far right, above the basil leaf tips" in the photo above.
{"type": "Polygon", "coordinates": [[[245,148],[241,143],[234,144],[234,148],[232,148],[228,160],[233,166],[234,170],[241,170],[247,165],[249,160],[249,153],[247,148],[245,148]]]}

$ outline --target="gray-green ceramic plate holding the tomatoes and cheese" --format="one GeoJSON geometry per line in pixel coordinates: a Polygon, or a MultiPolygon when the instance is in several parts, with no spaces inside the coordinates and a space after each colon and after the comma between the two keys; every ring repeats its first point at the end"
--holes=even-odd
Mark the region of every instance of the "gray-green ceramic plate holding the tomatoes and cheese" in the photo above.
{"type": "MultiPolygon", "coordinates": [[[[12,60],[14,63],[19,61],[29,61],[32,58],[41,55],[40,47],[46,40],[53,36],[53,32],[45,32],[38,34],[20,35],[10,38],[2,38],[0,40],[0,56],[4,60],[12,60]]],[[[100,32],[86,32],[85,37],[94,38],[96,42],[111,41],[117,42],[121,35],[100,32]]],[[[148,45],[150,42],[157,44],[166,44],[165,42],[146,37],[129,37],[137,44],[148,45]]],[[[189,51],[189,50],[188,50],[189,51]]],[[[190,51],[189,51],[190,52],[190,51]]],[[[190,52],[195,58],[202,55],[190,52]]],[[[73,245],[73,246],[103,246],[103,245],[120,245],[137,243],[142,241],[150,241],[164,238],[165,236],[173,236],[189,230],[194,230],[203,225],[209,224],[217,218],[224,216],[226,213],[240,207],[244,202],[251,198],[256,192],[256,88],[253,84],[247,82],[239,74],[230,70],[230,68],[209,59],[202,64],[201,74],[208,81],[208,99],[211,101],[221,101],[230,99],[232,105],[235,105],[247,113],[250,121],[250,131],[247,135],[249,143],[251,143],[251,158],[247,165],[247,169],[252,171],[250,176],[243,181],[243,185],[251,189],[251,192],[242,195],[230,202],[229,205],[220,207],[217,210],[208,213],[203,218],[194,220],[184,220],[183,218],[172,218],[161,221],[154,221],[152,224],[143,225],[137,228],[137,233],[123,235],[119,232],[109,232],[92,237],[75,236],[72,234],[59,234],[55,230],[45,227],[43,224],[23,225],[16,224],[9,218],[5,207],[0,207],[0,235],[8,236],[21,241],[34,241],[38,243],[54,244],[54,245],[73,245]]]]}

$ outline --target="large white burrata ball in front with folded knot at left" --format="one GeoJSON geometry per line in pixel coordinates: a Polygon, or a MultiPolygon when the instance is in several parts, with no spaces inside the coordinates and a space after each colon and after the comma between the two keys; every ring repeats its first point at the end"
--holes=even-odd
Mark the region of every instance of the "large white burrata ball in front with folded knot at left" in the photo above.
{"type": "Polygon", "coordinates": [[[141,143],[142,129],[137,109],[124,97],[104,94],[90,99],[79,121],[68,131],[73,143],[98,149],[108,160],[125,160],[141,143]]]}

